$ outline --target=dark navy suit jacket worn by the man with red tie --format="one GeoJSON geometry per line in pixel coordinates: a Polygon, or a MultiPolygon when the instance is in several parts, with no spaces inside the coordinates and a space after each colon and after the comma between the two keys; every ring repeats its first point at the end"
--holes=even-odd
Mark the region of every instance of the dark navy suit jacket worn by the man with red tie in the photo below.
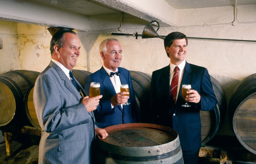
{"type": "Polygon", "coordinates": [[[173,128],[179,134],[182,151],[201,147],[200,110],[210,111],[217,100],[212,89],[210,75],[206,68],[186,62],[176,104],[172,107],[170,95],[170,65],[152,73],[150,89],[151,123],[173,128]],[[201,96],[199,103],[188,103],[181,97],[183,84],[191,84],[201,96]]]}

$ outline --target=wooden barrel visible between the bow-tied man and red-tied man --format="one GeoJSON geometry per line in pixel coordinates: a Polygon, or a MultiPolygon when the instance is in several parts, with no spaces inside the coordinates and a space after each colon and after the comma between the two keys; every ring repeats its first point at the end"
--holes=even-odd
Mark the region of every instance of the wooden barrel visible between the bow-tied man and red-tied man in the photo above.
{"type": "Polygon", "coordinates": [[[148,109],[149,109],[149,93],[151,75],[139,72],[130,71],[132,78],[132,85],[135,94],[135,99],[140,109],[140,122],[147,122],[148,120],[148,109]]]}

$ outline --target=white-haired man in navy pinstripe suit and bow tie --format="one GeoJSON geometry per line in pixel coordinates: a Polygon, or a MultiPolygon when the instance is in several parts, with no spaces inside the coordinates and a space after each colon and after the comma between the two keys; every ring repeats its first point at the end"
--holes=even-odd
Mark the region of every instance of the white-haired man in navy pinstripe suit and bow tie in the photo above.
{"type": "Polygon", "coordinates": [[[89,94],[90,83],[100,83],[100,94],[103,96],[94,112],[96,125],[105,128],[111,125],[135,123],[139,111],[134,96],[130,72],[119,67],[122,61],[122,47],[117,39],[107,38],[100,44],[100,56],[103,66],[86,77],[84,90],[89,94]],[[128,84],[128,92],[120,92],[120,85],[128,84]],[[122,105],[129,102],[129,105],[122,105]]]}

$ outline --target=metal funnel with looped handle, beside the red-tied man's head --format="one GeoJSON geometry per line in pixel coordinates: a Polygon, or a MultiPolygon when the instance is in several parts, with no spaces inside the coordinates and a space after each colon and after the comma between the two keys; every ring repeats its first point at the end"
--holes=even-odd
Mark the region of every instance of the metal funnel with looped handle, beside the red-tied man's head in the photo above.
{"type": "Polygon", "coordinates": [[[160,35],[157,34],[157,31],[159,30],[159,27],[160,27],[160,26],[159,26],[159,23],[158,23],[156,20],[151,21],[150,23],[148,23],[148,24],[145,26],[145,28],[144,28],[144,30],[143,30],[143,32],[142,32],[141,38],[142,38],[142,39],[147,39],[147,38],[161,38],[161,39],[164,39],[165,37],[160,36],[160,35]],[[153,23],[153,22],[156,22],[156,23],[157,23],[157,25],[158,25],[157,30],[155,30],[155,29],[152,27],[151,23],[153,23]]]}

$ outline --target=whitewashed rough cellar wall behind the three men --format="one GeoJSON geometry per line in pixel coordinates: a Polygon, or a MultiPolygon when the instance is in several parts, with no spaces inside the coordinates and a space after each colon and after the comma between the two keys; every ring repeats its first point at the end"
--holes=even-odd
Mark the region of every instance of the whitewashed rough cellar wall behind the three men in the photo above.
{"type": "MultiPolygon", "coordinates": [[[[233,7],[177,10],[175,26],[161,27],[158,34],[167,35],[170,32],[180,31],[188,37],[256,40],[255,15],[256,5],[238,6],[238,25],[233,26],[231,25],[234,21],[233,7]]],[[[107,18],[104,19],[108,21],[107,18]]],[[[51,60],[49,50],[51,35],[45,31],[46,28],[27,24],[16,26],[15,23],[6,21],[0,23],[0,28],[4,29],[1,33],[18,34],[18,40],[12,35],[0,34],[4,44],[4,48],[0,49],[0,59],[5,61],[0,66],[0,73],[13,69],[43,71],[51,60]]],[[[122,33],[141,34],[146,24],[147,22],[141,23],[138,19],[126,15],[122,33]]],[[[97,25],[101,24],[97,22],[97,25]]],[[[152,71],[169,64],[163,39],[141,39],[140,36],[135,39],[133,36],[111,35],[111,32],[118,31],[78,32],[82,48],[74,69],[90,72],[100,69],[103,62],[98,51],[99,44],[107,37],[115,37],[122,45],[121,67],[152,74],[152,71]]],[[[255,42],[189,39],[186,60],[208,68],[210,75],[222,86],[229,102],[236,85],[248,75],[256,73],[255,52],[255,42]]],[[[228,116],[218,133],[233,135],[228,116]]]]}

